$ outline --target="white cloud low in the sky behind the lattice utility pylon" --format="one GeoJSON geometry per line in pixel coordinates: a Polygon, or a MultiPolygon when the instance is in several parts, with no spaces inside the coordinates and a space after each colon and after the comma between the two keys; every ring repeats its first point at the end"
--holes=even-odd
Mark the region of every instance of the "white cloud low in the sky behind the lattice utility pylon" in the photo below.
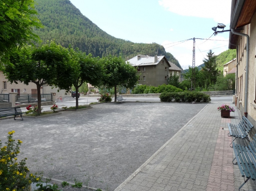
{"type": "MultiPolygon", "coordinates": [[[[211,37],[213,40],[221,41],[211,41],[211,40],[201,40],[196,39],[195,45],[195,65],[198,66],[203,64],[203,59],[207,57],[207,52],[211,49],[215,55],[228,49],[228,38],[222,36],[211,37]]],[[[170,41],[164,41],[162,43],[166,52],[170,52],[179,61],[183,69],[187,69],[188,66],[192,66],[193,61],[193,40],[184,43],[173,43],[170,41]]]]}

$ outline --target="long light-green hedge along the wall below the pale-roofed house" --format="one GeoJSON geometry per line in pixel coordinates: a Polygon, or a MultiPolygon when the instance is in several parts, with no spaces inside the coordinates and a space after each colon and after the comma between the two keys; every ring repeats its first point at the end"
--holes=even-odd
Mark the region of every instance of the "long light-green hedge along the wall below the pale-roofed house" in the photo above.
{"type": "Polygon", "coordinates": [[[147,85],[137,85],[133,90],[132,94],[157,94],[163,92],[182,92],[183,90],[177,88],[172,85],[159,85],[158,87],[155,86],[147,86],[147,85]]]}

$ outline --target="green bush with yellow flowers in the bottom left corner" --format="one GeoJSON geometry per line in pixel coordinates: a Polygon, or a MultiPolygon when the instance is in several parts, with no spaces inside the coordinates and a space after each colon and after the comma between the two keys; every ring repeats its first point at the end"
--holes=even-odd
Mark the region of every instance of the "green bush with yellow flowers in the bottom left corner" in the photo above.
{"type": "Polygon", "coordinates": [[[12,137],[15,131],[8,132],[6,146],[0,141],[0,190],[29,191],[32,182],[40,182],[41,177],[29,174],[26,158],[17,162],[21,140],[12,137]]]}

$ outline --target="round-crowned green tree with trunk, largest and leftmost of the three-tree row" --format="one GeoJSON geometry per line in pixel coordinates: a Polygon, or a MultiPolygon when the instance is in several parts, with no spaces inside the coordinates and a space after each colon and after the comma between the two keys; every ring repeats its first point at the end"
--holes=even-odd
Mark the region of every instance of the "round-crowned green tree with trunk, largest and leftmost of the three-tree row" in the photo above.
{"type": "MultiPolygon", "coordinates": [[[[70,64],[68,50],[54,42],[39,47],[25,46],[20,50],[15,49],[5,61],[4,74],[11,83],[20,81],[26,85],[30,82],[36,84],[38,114],[41,113],[40,88],[46,84],[56,85],[60,79],[59,71],[66,71],[67,74],[70,64]]],[[[66,89],[61,83],[60,89],[66,89]]]]}

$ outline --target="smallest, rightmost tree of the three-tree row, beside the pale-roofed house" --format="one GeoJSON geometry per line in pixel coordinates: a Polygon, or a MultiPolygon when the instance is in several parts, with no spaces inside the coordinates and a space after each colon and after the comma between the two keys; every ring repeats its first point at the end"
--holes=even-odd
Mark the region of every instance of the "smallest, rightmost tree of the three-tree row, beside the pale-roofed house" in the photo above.
{"type": "Polygon", "coordinates": [[[125,88],[134,88],[139,76],[137,76],[137,69],[126,63],[121,57],[108,56],[102,58],[104,67],[106,68],[106,76],[103,79],[103,85],[108,88],[114,87],[116,102],[116,87],[123,86],[125,88]]]}

